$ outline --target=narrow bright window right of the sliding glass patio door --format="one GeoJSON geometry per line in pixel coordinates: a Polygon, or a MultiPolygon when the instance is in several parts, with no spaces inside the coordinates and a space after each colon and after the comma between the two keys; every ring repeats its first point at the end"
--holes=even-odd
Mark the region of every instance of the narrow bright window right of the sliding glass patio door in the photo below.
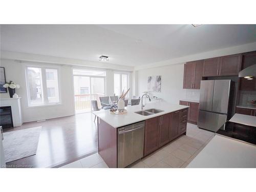
{"type": "MultiPolygon", "coordinates": [[[[116,95],[120,96],[122,91],[126,92],[129,87],[129,74],[114,74],[114,92],[116,95]]],[[[126,98],[128,95],[126,95],[126,98]]]]}

